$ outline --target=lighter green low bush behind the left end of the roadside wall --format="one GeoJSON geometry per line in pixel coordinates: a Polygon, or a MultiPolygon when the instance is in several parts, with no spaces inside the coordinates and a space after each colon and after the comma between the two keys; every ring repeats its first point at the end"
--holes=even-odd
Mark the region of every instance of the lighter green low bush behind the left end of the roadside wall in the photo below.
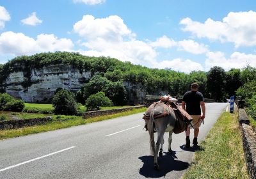
{"type": "Polygon", "coordinates": [[[90,95],[85,102],[86,111],[99,110],[100,107],[111,106],[113,103],[100,91],[94,95],[90,95]]]}

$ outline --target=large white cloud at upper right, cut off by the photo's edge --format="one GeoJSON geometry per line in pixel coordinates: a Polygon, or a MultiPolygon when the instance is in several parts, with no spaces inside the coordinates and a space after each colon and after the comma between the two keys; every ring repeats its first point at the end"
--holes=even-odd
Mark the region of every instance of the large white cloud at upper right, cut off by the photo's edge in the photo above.
{"type": "Polygon", "coordinates": [[[182,19],[184,31],[190,31],[198,38],[209,38],[221,42],[233,42],[236,47],[256,45],[256,12],[230,12],[222,21],[207,19],[204,23],[188,17],[182,19]]]}

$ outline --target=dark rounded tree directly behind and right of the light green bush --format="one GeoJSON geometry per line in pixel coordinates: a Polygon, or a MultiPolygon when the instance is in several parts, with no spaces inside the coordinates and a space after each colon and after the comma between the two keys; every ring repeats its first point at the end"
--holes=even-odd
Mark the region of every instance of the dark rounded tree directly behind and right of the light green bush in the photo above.
{"type": "Polygon", "coordinates": [[[121,81],[110,82],[103,89],[106,96],[109,97],[115,105],[124,105],[127,102],[127,91],[121,81]]]}

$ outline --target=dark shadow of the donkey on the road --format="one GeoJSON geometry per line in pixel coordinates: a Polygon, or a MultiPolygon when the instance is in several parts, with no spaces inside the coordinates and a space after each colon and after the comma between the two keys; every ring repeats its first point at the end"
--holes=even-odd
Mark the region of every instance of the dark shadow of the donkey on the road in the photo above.
{"type": "Polygon", "coordinates": [[[140,169],[140,175],[150,178],[159,178],[165,176],[170,171],[181,171],[189,167],[188,162],[182,162],[175,160],[176,152],[168,153],[164,152],[163,157],[158,157],[159,170],[154,170],[154,157],[151,155],[139,157],[143,162],[143,166],[140,169]]]}

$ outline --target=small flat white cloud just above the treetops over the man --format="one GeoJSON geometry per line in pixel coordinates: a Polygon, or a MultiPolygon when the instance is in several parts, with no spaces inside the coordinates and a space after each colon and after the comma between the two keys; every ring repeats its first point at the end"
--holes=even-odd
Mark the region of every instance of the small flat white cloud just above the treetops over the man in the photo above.
{"type": "Polygon", "coordinates": [[[200,63],[196,63],[194,61],[191,61],[190,59],[186,59],[183,61],[180,58],[173,59],[170,61],[161,61],[157,64],[157,68],[171,68],[172,70],[186,73],[192,72],[193,70],[203,70],[203,67],[200,63]]]}

